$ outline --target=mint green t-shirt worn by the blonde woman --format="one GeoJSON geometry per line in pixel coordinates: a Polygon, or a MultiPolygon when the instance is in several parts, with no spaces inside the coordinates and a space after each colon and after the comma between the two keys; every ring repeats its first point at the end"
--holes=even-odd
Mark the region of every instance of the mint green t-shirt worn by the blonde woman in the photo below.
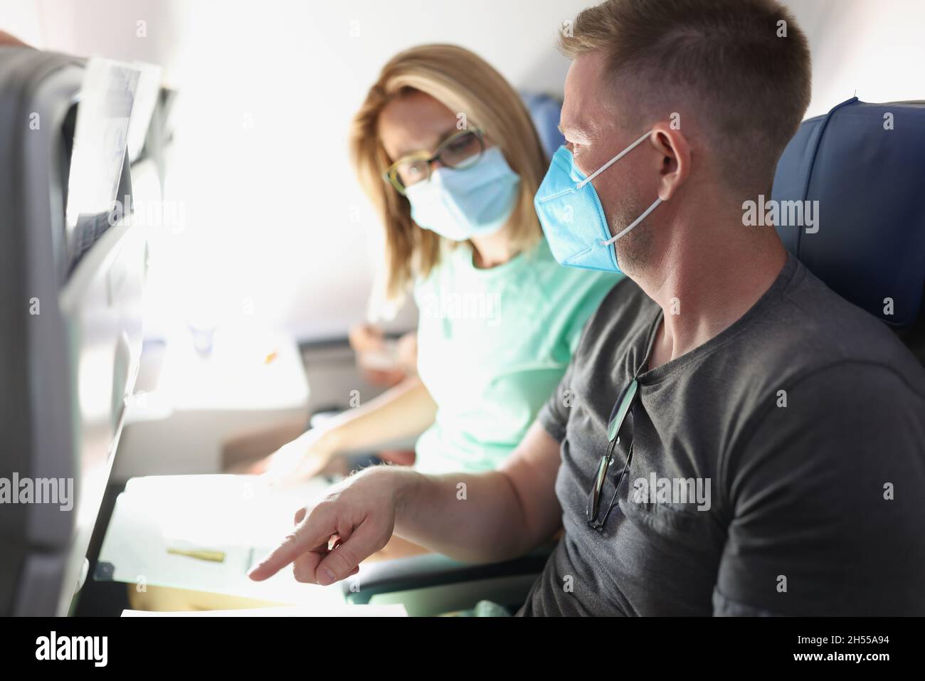
{"type": "Polygon", "coordinates": [[[589,316],[623,275],[563,267],[545,239],[479,269],[447,248],[414,287],[418,373],[437,417],[417,441],[425,473],[491,470],[559,385],[589,316]]]}

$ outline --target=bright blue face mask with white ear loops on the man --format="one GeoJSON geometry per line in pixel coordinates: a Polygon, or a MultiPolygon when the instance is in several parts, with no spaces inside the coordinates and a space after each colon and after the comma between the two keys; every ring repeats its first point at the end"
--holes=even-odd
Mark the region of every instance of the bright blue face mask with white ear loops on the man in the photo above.
{"type": "Polygon", "coordinates": [[[611,237],[607,216],[591,180],[645,142],[650,134],[647,132],[588,177],[575,167],[574,156],[566,147],[560,147],[552,156],[549,171],[536,191],[533,204],[546,233],[549,250],[561,265],[620,271],[613,242],[646,219],[661,199],[656,199],[632,224],[611,237]]]}

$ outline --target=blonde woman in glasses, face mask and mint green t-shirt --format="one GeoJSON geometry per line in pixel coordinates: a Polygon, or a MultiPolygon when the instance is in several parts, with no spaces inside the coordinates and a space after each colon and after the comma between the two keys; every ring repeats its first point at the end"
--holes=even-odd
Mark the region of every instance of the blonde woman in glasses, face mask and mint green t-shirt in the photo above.
{"type": "Polygon", "coordinates": [[[556,389],[619,277],[559,266],[533,208],[548,161],[523,102],[483,59],[432,44],[392,58],[353,120],[351,156],[385,226],[388,302],[420,310],[418,375],[276,452],[302,479],[340,452],[423,431],[428,472],[498,466],[556,389]]]}

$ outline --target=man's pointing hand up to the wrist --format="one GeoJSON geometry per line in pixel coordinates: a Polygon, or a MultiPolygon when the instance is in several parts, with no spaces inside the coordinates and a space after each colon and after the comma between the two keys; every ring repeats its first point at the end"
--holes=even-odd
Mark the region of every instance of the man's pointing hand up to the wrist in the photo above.
{"type": "Polygon", "coordinates": [[[263,581],[290,563],[306,584],[327,586],[355,575],[392,536],[406,479],[401,470],[375,466],[339,483],[324,501],[299,509],[295,530],[249,576],[263,581]]]}

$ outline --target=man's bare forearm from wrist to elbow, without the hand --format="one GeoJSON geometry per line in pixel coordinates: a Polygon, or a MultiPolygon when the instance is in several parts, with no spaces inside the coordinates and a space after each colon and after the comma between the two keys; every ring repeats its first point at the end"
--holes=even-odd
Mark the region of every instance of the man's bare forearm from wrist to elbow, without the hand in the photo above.
{"type": "Polygon", "coordinates": [[[524,507],[508,475],[401,476],[395,534],[462,561],[488,563],[522,555],[536,544],[524,507]]]}

